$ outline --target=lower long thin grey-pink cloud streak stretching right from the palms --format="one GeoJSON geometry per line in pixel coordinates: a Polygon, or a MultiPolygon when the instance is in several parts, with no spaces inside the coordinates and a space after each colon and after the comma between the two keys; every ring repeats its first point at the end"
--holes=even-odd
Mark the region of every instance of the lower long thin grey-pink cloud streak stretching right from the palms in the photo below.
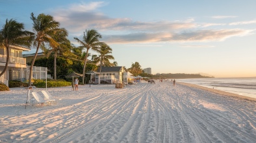
{"type": "Polygon", "coordinates": [[[132,34],[105,35],[103,41],[107,43],[150,43],[150,42],[194,42],[194,41],[223,41],[233,36],[245,36],[251,30],[224,29],[198,30],[191,32],[137,32],[132,34]]]}

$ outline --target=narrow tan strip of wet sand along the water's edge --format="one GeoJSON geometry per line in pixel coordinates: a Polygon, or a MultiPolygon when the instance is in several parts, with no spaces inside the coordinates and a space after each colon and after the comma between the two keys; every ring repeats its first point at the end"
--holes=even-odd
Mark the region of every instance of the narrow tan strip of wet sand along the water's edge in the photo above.
{"type": "Polygon", "coordinates": [[[226,91],[219,91],[218,89],[210,89],[208,87],[202,87],[202,86],[195,85],[195,84],[192,84],[192,83],[185,83],[185,82],[178,82],[178,83],[181,84],[181,85],[188,86],[188,87],[195,87],[195,88],[198,88],[198,89],[203,89],[205,91],[210,91],[210,92],[216,93],[216,94],[221,94],[221,95],[225,95],[225,96],[232,96],[232,97],[238,97],[238,98],[252,100],[252,101],[256,102],[256,98],[251,98],[251,97],[248,97],[248,96],[242,96],[242,95],[238,95],[238,94],[235,94],[235,93],[228,93],[226,91]]]}

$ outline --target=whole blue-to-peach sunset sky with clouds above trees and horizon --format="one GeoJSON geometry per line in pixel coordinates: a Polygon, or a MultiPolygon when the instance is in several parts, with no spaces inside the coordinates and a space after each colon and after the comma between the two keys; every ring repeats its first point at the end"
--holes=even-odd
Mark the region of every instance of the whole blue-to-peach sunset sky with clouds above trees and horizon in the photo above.
{"type": "Polygon", "coordinates": [[[44,13],[60,22],[77,46],[73,38],[96,29],[119,66],[138,61],[152,74],[255,77],[255,5],[255,0],[0,0],[0,27],[16,19],[32,31],[31,13],[44,13]]]}

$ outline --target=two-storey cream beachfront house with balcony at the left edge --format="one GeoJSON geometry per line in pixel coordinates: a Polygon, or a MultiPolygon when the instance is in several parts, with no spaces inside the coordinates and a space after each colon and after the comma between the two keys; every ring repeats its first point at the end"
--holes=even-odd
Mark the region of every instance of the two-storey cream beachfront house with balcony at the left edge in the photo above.
{"type": "MultiPolygon", "coordinates": [[[[5,83],[8,86],[8,80],[22,80],[27,73],[26,59],[23,58],[22,52],[29,51],[25,47],[19,47],[15,45],[10,45],[9,53],[10,58],[8,61],[8,68],[0,77],[0,82],[5,83]]],[[[0,49],[0,72],[5,68],[6,63],[6,49],[0,49]]]]}

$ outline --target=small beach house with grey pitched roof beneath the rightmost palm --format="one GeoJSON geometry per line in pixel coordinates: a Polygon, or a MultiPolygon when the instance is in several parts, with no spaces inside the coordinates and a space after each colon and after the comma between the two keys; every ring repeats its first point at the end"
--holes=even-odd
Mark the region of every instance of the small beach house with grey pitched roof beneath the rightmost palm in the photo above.
{"type": "MultiPolygon", "coordinates": [[[[100,67],[98,68],[99,72],[100,67]]],[[[123,82],[123,72],[125,69],[123,66],[119,67],[101,67],[101,72],[99,75],[100,83],[122,83],[123,82]]]]}

